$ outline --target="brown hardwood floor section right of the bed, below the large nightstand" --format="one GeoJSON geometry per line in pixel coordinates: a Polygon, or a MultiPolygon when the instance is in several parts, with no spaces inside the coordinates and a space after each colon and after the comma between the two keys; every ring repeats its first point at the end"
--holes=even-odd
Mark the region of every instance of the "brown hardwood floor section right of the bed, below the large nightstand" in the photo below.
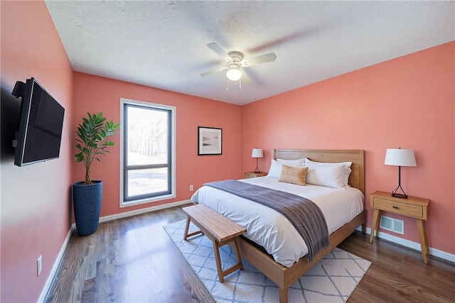
{"type": "Polygon", "coordinates": [[[420,250],[368,241],[355,231],[338,246],[372,262],[348,302],[455,302],[455,263],[430,255],[425,265],[420,250]]]}

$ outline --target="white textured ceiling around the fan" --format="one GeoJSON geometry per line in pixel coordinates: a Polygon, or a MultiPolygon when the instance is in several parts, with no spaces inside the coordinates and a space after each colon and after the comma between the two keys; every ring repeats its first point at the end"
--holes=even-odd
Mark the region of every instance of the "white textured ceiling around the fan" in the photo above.
{"type": "Polygon", "coordinates": [[[455,40],[455,1],[45,1],[73,69],[247,104],[455,40]],[[245,57],[229,82],[207,43],[245,57]]]}

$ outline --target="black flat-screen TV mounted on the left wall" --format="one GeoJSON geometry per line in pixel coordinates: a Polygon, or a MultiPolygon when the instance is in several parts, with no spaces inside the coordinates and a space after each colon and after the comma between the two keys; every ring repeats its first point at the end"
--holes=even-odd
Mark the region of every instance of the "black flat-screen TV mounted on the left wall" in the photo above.
{"type": "Polygon", "coordinates": [[[16,82],[13,94],[22,97],[14,164],[58,158],[65,109],[34,78],[16,82]]]}

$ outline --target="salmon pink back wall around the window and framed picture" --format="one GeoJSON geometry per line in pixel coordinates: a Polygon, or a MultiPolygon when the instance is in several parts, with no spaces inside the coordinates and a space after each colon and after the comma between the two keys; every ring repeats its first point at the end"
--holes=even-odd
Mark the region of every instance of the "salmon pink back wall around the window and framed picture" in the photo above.
{"type": "MultiPolygon", "coordinates": [[[[107,119],[120,121],[120,98],[176,106],[176,198],[120,209],[120,136],[111,154],[92,165],[92,180],[103,180],[101,216],[190,199],[204,182],[240,178],[241,108],[237,105],[144,87],[93,75],[75,73],[73,130],[86,112],[103,111],[107,119]],[[223,155],[198,156],[198,126],[223,128],[223,155]]],[[[75,136],[72,138],[75,145],[75,136]]],[[[73,153],[76,153],[73,147],[73,153]]],[[[73,163],[73,182],[83,180],[85,171],[73,163]]]]}

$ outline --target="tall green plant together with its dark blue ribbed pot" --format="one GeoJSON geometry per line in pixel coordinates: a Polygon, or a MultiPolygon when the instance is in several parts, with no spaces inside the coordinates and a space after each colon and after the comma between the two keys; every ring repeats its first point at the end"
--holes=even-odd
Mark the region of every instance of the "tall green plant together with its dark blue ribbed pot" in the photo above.
{"type": "Polygon", "coordinates": [[[85,181],[73,184],[73,206],[77,227],[80,236],[95,233],[100,221],[102,181],[90,179],[90,166],[93,160],[101,161],[100,156],[110,153],[107,148],[114,146],[114,142],[107,137],[116,134],[120,124],[106,121],[99,114],[89,114],[82,118],[82,125],[77,126],[76,162],[83,162],[85,166],[85,181]]]}

